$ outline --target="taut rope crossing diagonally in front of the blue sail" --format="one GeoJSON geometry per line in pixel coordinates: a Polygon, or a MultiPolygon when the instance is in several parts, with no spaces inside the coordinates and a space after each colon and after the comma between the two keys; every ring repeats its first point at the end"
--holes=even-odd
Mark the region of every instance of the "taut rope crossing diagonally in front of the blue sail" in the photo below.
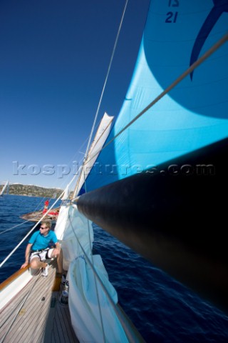
{"type": "Polygon", "coordinates": [[[197,61],[195,61],[188,69],[186,69],[179,77],[177,77],[177,79],[175,79],[175,81],[173,81],[172,84],[170,84],[170,86],[168,86],[152,102],[150,102],[150,104],[148,104],[145,107],[145,109],[142,109],[142,111],[137,116],[135,116],[133,120],[131,120],[127,125],[123,127],[123,129],[121,129],[118,132],[118,134],[116,134],[112,139],[110,139],[110,141],[108,141],[108,143],[105,144],[102,149],[100,149],[93,156],[91,156],[91,158],[88,161],[86,161],[85,164],[87,164],[96,155],[100,154],[100,151],[103,151],[103,149],[105,149],[109,144],[111,144],[114,141],[114,139],[120,136],[120,134],[122,134],[123,131],[128,129],[129,126],[131,126],[136,120],[138,120],[140,116],[142,116],[142,114],[145,114],[145,112],[148,111],[148,109],[150,109],[152,106],[154,106],[157,103],[157,101],[162,99],[163,96],[165,96],[169,91],[171,91],[175,86],[177,86],[177,84],[179,84],[180,81],[182,81],[182,79],[185,79],[187,75],[191,74],[192,71],[197,68],[197,66],[202,64],[202,62],[204,62],[209,56],[211,56],[214,53],[214,51],[219,49],[219,47],[222,46],[227,40],[228,40],[228,34],[224,34],[224,36],[221,39],[219,39],[217,43],[215,43],[211,48],[209,48],[201,57],[199,57],[199,59],[197,59],[197,61]]]}

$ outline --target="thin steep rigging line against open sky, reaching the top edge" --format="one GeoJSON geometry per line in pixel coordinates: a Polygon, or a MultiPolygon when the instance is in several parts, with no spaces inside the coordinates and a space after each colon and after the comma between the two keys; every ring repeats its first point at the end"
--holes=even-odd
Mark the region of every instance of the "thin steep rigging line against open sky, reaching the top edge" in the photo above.
{"type": "Polygon", "coordinates": [[[112,63],[113,63],[113,56],[114,56],[114,54],[115,54],[115,49],[116,49],[116,46],[117,46],[117,44],[118,44],[118,39],[119,39],[119,36],[120,36],[120,30],[121,30],[121,27],[122,27],[122,24],[123,24],[123,17],[124,17],[124,15],[125,15],[125,11],[126,11],[127,5],[128,5],[128,0],[126,0],[126,2],[125,2],[125,6],[124,6],[124,9],[123,9],[123,14],[122,14],[122,17],[121,17],[121,20],[120,20],[119,29],[118,29],[118,34],[117,34],[117,36],[116,36],[116,38],[115,38],[115,44],[114,44],[114,46],[113,46],[113,53],[112,53],[112,56],[111,56],[111,58],[110,58],[110,63],[109,63],[109,66],[108,66],[108,71],[107,71],[107,74],[106,74],[106,77],[105,77],[105,83],[104,83],[104,85],[103,85],[103,90],[102,90],[101,95],[100,95],[100,101],[99,101],[99,103],[98,103],[98,109],[97,109],[97,111],[96,111],[95,119],[94,119],[94,121],[93,121],[93,126],[92,126],[92,129],[91,129],[90,138],[89,138],[89,140],[88,140],[88,145],[87,145],[87,149],[86,149],[86,154],[85,154],[85,156],[87,156],[87,154],[88,154],[88,149],[89,149],[89,146],[90,146],[90,141],[91,141],[91,139],[92,139],[92,135],[93,135],[95,123],[96,123],[96,120],[97,120],[97,117],[98,117],[98,112],[100,111],[100,104],[101,104],[101,101],[102,101],[102,99],[103,99],[103,94],[104,94],[104,91],[105,91],[105,86],[106,86],[107,81],[108,81],[108,76],[109,76],[109,73],[110,73],[110,68],[111,68],[111,65],[112,65],[112,63]]]}

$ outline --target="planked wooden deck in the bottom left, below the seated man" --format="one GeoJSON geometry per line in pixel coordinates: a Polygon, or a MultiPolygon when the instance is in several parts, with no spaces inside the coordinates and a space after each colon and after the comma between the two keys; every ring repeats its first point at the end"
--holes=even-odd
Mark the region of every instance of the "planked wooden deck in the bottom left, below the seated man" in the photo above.
{"type": "Polygon", "coordinates": [[[1,343],[78,342],[68,305],[59,302],[60,279],[56,279],[55,264],[51,261],[48,277],[42,277],[41,273],[34,276],[1,310],[1,343]]]}

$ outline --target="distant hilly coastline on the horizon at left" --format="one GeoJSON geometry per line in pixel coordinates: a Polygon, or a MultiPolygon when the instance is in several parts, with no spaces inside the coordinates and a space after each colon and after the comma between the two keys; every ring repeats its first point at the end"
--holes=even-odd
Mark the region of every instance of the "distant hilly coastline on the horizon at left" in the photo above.
{"type": "MultiPolygon", "coordinates": [[[[0,185],[0,192],[4,185],[0,185]]],[[[63,189],[59,188],[45,188],[35,186],[33,184],[10,184],[9,194],[24,195],[27,197],[46,197],[46,198],[58,198],[63,189]]]]}

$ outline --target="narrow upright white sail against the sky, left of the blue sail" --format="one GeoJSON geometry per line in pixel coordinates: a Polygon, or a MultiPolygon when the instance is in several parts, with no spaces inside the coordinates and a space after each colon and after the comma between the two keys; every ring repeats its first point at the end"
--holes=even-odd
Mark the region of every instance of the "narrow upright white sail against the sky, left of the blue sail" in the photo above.
{"type": "Polygon", "coordinates": [[[78,195],[81,188],[83,187],[84,182],[86,181],[86,178],[88,177],[88,174],[90,173],[90,170],[93,167],[93,164],[95,164],[95,161],[98,158],[98,154],[105,144],[105,141],[110,133],[113,118],[113,116],[108,116],[106,112],[103,115],[103,118],[100,121],[98,130],[96,131],[95,137],[88,151],[88,155],[86,156],[85,161],[83,161],[83,166],[78,177],[78,182],[76,184],[76,189],[73,197],[76,197],[78,195]]]}

